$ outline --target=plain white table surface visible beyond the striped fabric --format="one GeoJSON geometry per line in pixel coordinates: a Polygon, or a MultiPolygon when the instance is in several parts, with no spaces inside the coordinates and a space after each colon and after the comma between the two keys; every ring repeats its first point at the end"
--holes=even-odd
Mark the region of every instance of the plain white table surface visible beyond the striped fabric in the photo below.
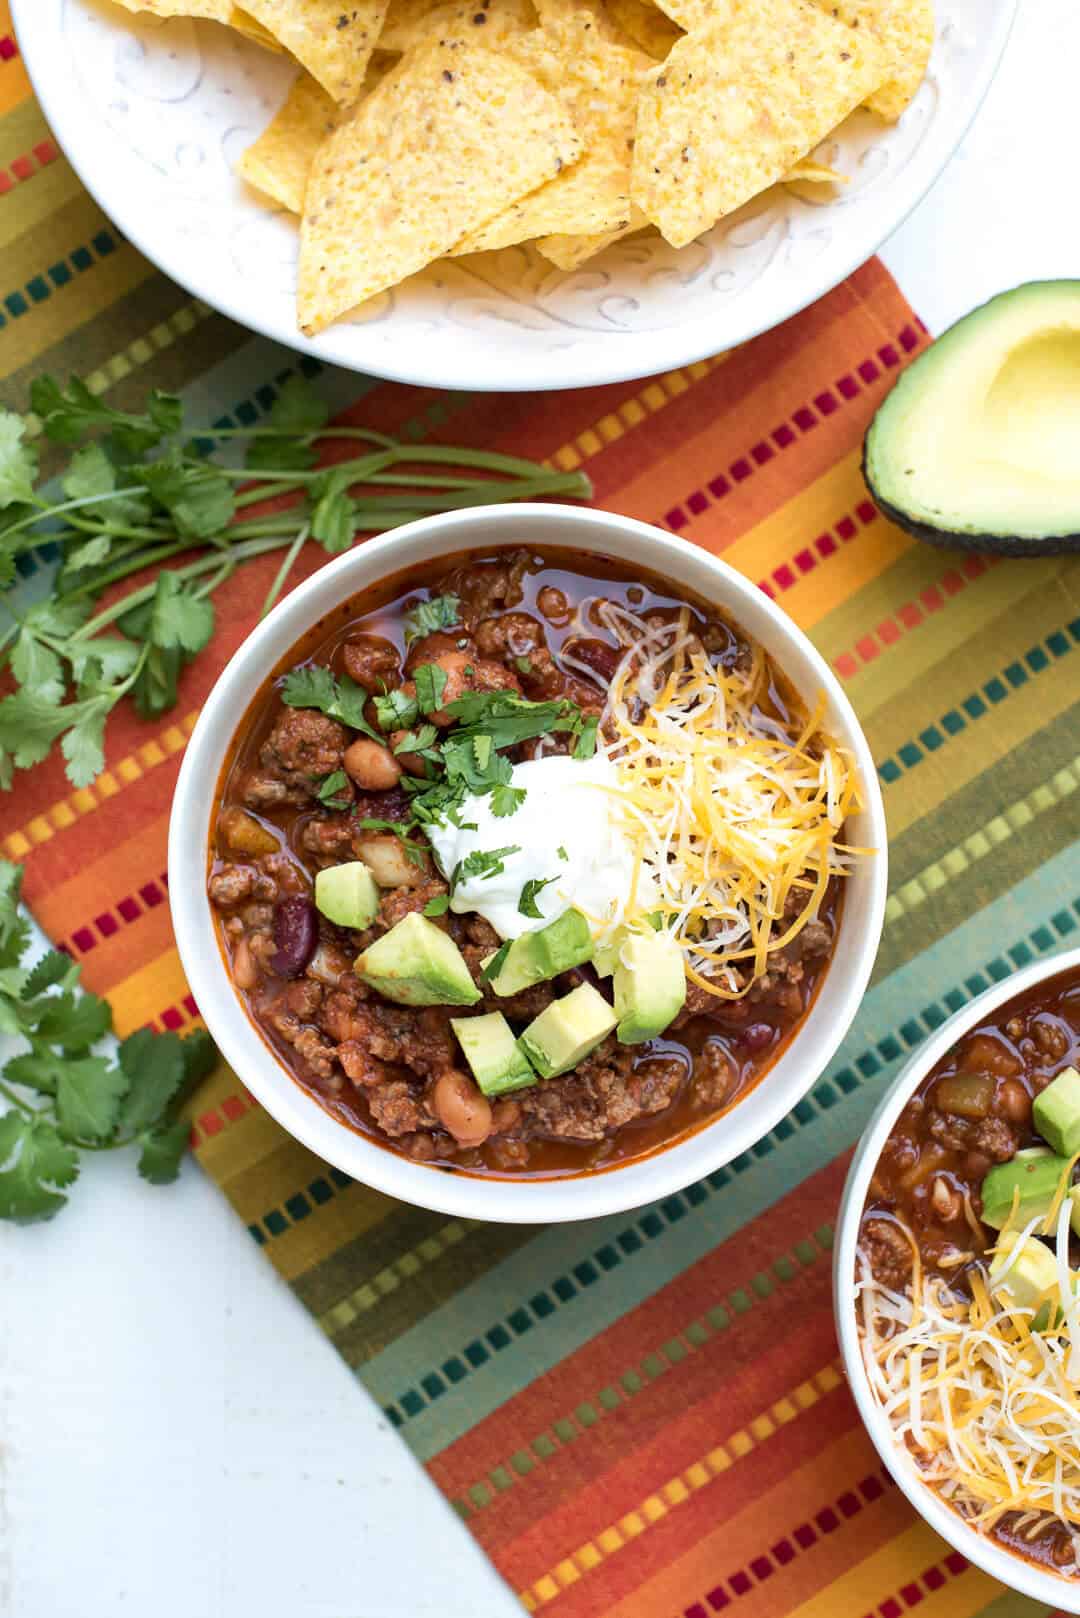
{"type": "MultiPolygon", "coordinates": [[[[884,249],[941,330],[1080,275],[1077,0],[1022,0],[962,150],[884,249]]],[[[191,1163],[89,1162],[0,1226],[5,1618],[500,1618],[468,1532],[191,1163]]]]}

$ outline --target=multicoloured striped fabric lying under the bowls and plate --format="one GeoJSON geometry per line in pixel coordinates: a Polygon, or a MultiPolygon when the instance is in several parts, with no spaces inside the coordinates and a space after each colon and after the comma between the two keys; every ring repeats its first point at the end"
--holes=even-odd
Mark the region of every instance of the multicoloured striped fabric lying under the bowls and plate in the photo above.
{"type": "MultiPolygon", "coordinates": [[[[31,97],[2,0],[0,248],[16,408],[37,371],[78,371],[120,406],[154,383],[201,419],[251,422],[300,366],[353,422],[586,468],[597,505],[722,553],[810,631],[878,759],[892,896],[840,1055],[753,1152],[638,1214],[468,1225],[329,1170],[225,1071],[199,1099],[196,1150],[529,1610],[1044,1613],[913,1516],[860,1429],[831,1315],[845,1158],[882,1084],[1080,921],[1080,571],[950,557],[874,511],[860,438],[926,341],[881,265],[746,348],[648,382],[492,398],[319,372],[193,303],[100,215],[31,97]]],[[[121,1032],[198,1014],[168,922],[168,804],[274,566],[222,591],[220,633],[175,714],[118,718],[92,786],[47,764],[0,804],[29,903],[121,1032]]],[[[47,557],[23,587],[45,582],[47,557]]]]}

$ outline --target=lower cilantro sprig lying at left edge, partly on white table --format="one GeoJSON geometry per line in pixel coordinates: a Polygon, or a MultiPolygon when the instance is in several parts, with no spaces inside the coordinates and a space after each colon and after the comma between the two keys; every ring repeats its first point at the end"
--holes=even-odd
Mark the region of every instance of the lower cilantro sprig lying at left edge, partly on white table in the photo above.
{"type": "Polygon", "coordinates": [[[34,1222],[66,1205],[83,1152],[136,1147],[144,1180],[175,1180],[183,1102],[217,1057],[209,1034],[151,1029],[105,1050],[112,1011],[78,987],[78,964],[58,950],[24,964],[19,887],[19,867],[0,861],[0,1034],[16,1047],[0,1076],[0,1218],[34,1222]]]}

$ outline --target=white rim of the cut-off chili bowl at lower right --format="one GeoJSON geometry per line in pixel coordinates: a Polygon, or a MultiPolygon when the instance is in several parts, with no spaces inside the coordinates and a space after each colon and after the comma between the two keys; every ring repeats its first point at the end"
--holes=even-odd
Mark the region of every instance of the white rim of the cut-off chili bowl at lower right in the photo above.
{"type": "Polygon", "coordinates": [[[1009,1589],[1046,1602],[1051,1607],[1080,1613],[1080,1581],[1065,1579],[1061,1574],[1048,1573],[1035,1563],[1025,1561],[1015,1552],[1004,1550],[986,1535],[970,1527],[941,1495],[938,1495],[915,1469],[897,1446],[892,1430],[878,1406],[863,1367],[863,1356],[858,1336],[858,1320],[855,1315],[855,1252],[858,1246],[858,1226],[861,1210],[870,1189],[870,1178],[878,1165],[881,1149],[904,1110],[912,1091],[921,1084],[929,1069],[955,1045],[955,1042],[984,1021],[991,1011],[1025,993],[1028,989],[1057,977],[1061,972],[1080,966],[1080,945],[1062,950],[1057,955],[1033,961],[1030,966],[991,984],[968,1005],[960,1006],[934,1034],[921,1045],[892,1079],[884,1095],[878,1102],[874,1113],[866,1125],[855,1155],[852,1158],[840,1210],[837,1215],[837,1238],[832,1260],[832,1307],[836,1314],[837,1336],[844,1356],[844,1369],[858,1414],[870,1434],[882,1463],[907,1495],[912,1506],[944,1540],[960,1552],[973,1566],[999,1579],[1009,1589]]]}

